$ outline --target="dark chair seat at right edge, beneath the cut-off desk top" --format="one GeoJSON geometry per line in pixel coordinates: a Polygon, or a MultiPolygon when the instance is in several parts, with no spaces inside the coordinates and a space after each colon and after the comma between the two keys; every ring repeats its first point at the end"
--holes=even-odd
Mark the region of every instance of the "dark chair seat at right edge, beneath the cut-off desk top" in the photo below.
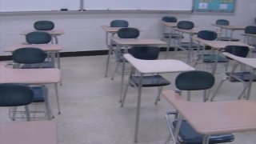
{"type": "MultiPolygon", "coordinates": [[[[232,73],[226,73],[227,76],[230,76],[230,74],[232,73]]],[[[230,82],[240,82],[238,79],[244,82],[250,82],[250,80],[252,79],[253,82],[256,82],[256,75],[250,72],[233,73],[230,82]]]]}

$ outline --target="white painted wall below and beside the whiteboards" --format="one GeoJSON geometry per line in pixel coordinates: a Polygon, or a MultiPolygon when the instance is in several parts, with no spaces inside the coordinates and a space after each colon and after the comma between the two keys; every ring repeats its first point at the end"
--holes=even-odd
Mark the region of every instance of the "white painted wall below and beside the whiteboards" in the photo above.
{"type": "MultiPolygon", "coordinates": [[[[130,26],[142,30],[142,38],[160,38],[162,26],[159,20],[166,15],[175,16],[178,20],[189,20],[198,26],[199,30],[216,30],[210,26],[216,19],[226,18],[232,25],[254,25],[256,18],[255,0],[237,0],[234,14],[0,14],[0,55],[10,55],[3,52],[6,46],[24,42],[25,38],[19,33],[31,29],[35,21],[51,20],[56,29],[65,30],[66,34],[59,37],[59,43],[64,46],[63,51],[106,50],[105,33],[102,25],[108,25],[114,19],[126,19],[130,26]]],[[[242,31],[235,31],[234,37],[241,38],[242,31]]]]}

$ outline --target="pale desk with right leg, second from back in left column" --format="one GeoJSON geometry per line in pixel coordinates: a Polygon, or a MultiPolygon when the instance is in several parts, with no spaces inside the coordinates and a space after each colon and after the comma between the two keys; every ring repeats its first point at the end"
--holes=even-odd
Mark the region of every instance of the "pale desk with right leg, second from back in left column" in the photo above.
{"type": "Polygon", "coordinates": [[[59,56],[59,51],[63,50],[62,46],[58,44],[28,44],[28,43],[21,43],[21,44],[14,44],[12,46],[7,47],[4,51],[5,52],[13,52],[14,50],[17,50],[22,47],[36,47],[39,49],[42,49],[46,52],[49,52],[50,54],[56,54],[57,57],[57,64],[58,68],[61,69],[61,61],[59,56]]]}

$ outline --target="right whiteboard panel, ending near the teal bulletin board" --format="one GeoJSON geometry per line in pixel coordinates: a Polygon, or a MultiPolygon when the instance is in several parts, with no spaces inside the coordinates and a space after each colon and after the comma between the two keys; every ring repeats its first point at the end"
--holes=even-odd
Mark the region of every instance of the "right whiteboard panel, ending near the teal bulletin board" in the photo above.
{"type": "Polygon", "coordinates": [[[192,10],[193,0],[84,0],[85,10],[192,10]]]}

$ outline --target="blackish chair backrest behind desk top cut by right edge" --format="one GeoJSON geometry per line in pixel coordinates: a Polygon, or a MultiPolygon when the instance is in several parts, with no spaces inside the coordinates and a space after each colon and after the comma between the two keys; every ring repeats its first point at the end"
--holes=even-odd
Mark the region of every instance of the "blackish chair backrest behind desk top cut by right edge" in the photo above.
{"type": "Polygon", "coordinates": [[[226,46],[224,51],[230,54],[234,54],[238,57],[246,58],[247,54],[249,53],[249,47],[248,46],[226,46]]]}

